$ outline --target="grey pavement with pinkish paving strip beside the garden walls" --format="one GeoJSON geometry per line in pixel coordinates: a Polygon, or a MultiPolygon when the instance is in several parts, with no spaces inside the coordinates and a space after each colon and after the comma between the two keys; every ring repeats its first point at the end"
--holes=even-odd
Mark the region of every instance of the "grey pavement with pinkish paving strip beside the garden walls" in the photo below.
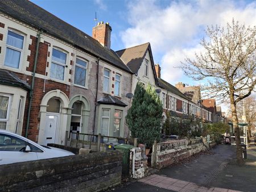
{"type": "Polygon", "coordinates": [[[171,165],[112,191],[256,191],[256,146],[247,148],[245,165],[236,163],[235,145],[217,145],[209,154],[171,165]]]}

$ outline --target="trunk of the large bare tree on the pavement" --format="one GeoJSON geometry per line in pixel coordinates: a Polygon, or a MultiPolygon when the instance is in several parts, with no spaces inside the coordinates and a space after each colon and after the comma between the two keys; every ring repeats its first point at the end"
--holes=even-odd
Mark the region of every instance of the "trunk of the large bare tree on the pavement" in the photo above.
{"type": "Polygon", "coordinates": [[[242,147],[241,147],[241,139],[240,139],[240,129],[238,127],[238,118],[237,118],[237,107],[234,104],[234,96],[230,96],[230,107],[232,111],[232,121],[234,127],[234,133],[236,137],[236,145],[237,145],[237,162],[238,164],[243,164],[244,160],[242,157],[242,147]]]}

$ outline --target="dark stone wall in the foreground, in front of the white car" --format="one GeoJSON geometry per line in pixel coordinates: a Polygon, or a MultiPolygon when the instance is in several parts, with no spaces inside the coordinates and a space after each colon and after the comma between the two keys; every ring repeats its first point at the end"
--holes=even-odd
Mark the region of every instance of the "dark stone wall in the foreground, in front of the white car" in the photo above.
{"type": "Polygon", "coordinates": [[[0,191],[100,191],[121,183],[122,153],[89,153],[0,166],[0,191]]]}

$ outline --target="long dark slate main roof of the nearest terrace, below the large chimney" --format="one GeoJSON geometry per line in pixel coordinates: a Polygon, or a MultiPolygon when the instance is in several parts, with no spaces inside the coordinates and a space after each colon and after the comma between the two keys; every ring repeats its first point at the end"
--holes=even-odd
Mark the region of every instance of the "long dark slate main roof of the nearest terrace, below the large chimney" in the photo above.
{"type": "MultiPolygon", "coordinates": [[[[24,23],[42,29],[49,35],[55,36],[77,48],[83,49],[102,60],[110,62],[131,73],[118,55],[109,48],[103,47],[93,37],[71,26],[48,11],[26,0],[0,0],[0,12],[24,23]]],[[[82,18],[81,18],[82,19],[82,18]]]]}

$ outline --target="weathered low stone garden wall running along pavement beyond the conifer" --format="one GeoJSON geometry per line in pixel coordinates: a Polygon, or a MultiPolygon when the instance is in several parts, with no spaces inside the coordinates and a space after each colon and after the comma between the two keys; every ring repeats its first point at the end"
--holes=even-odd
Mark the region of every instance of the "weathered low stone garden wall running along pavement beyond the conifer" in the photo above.
{"type": "Polygon", "coordinates": [[[161,169],[205,149],[206,147],[200,139],[170,140],[156,143],[153,146],[151,166],[161,169]]]}

